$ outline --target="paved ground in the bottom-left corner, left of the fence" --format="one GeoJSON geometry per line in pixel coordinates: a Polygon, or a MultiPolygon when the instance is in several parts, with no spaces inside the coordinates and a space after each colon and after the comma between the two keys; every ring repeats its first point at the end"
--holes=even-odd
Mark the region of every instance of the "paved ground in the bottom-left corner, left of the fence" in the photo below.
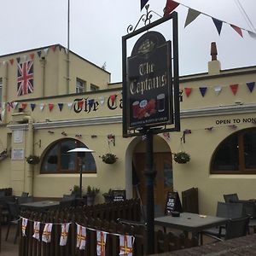
{"type": "Polygon", "coordinates": [[[1,256],[18,256],[18,250],[19,250],[19,241],[14,243],[15,241],[15,227],[11,227],[11,230],[9,232],[8,241],[5,241],[5,235],[6,235],[7,226],[2,225],[2,239],[1,239],[1,256]]]}

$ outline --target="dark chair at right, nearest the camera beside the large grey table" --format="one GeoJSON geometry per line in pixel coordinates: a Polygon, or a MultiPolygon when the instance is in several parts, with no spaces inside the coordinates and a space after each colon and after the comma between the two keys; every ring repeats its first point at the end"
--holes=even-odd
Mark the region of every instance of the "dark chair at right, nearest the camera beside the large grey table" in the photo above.
{"type": "Polygon", "coordinates": [[[226,224],[226,232],[223,238],[221,236],[212,236],[211,234],[207,233],[204,233],[204,235],[210,236],[218,241],[224,241],[240,236],[246,236],[249,218],[249,216],[242,218],[230,218],[228,223],[226,224]]]}

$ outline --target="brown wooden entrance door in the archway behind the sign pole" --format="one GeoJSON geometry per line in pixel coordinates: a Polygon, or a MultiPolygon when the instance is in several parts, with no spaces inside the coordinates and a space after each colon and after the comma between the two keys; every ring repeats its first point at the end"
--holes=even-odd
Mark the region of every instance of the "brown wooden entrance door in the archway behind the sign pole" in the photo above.
{"type": "MultiPolygon", "coordinates": [[[[144,176],[145,171],[145,154],[135,154],[135,172],[138,179],[138,190],[140,192],[143,205],[147,202],[147,188],[144,176]]],[[[172,180],[172,154],[171,153],[154,153],[154,170],[156,177],[154,179],[154,205],[165,210],[166,197],[169,191],[173,190],[172,180]]]]}

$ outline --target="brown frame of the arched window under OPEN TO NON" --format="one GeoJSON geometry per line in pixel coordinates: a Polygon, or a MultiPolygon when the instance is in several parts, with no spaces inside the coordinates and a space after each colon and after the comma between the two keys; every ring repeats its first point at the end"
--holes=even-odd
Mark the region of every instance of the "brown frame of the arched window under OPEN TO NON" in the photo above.
{"type": "Polygon", "coordinates": [[[215,149],[214,153],[212,154],[212,159],[211,159],[211,164],[210,164],[210,174],[228,174],[228,175],[234,175],[234,174],[239,174],[239,175],[243,175],[243,174],[256,174],[256,168],[246,168],[246,160],[244,157],[244,135],[245,133],[247,133],[248,131],[253,131],[254,133],[256,133],[256,129],[255,128],[246,128],[246,129],[242,129],[240,131],[236,131],[234,133],[232,133],[230,136],[225,137],[224,140],[218,144],[218,147],[215,149]],[[225,171],[225,170],[214,170],[213,166],[214,166],[214,161],[215,161],[215,157],[216,154],[218,154],[218,149],[224,146],[224,143],[227,142],[228,139],[230,139],[230,137],[235,137],[237,136],[237,147],[238,147],[238,169],[237,170],[229,170],[229,171],[225,171]]]}

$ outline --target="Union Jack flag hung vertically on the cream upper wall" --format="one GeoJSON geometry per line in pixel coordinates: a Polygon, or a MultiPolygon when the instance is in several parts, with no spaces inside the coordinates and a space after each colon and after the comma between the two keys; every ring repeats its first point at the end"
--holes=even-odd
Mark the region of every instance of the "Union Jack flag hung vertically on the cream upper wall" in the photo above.
{"type": "Polygon", "coordinates": [[[33,61],[26,61],[18,63],[18,74],[17,74],[17,95],[26,95],[32,93],[34,90],[33,86],[33,61]]]}

